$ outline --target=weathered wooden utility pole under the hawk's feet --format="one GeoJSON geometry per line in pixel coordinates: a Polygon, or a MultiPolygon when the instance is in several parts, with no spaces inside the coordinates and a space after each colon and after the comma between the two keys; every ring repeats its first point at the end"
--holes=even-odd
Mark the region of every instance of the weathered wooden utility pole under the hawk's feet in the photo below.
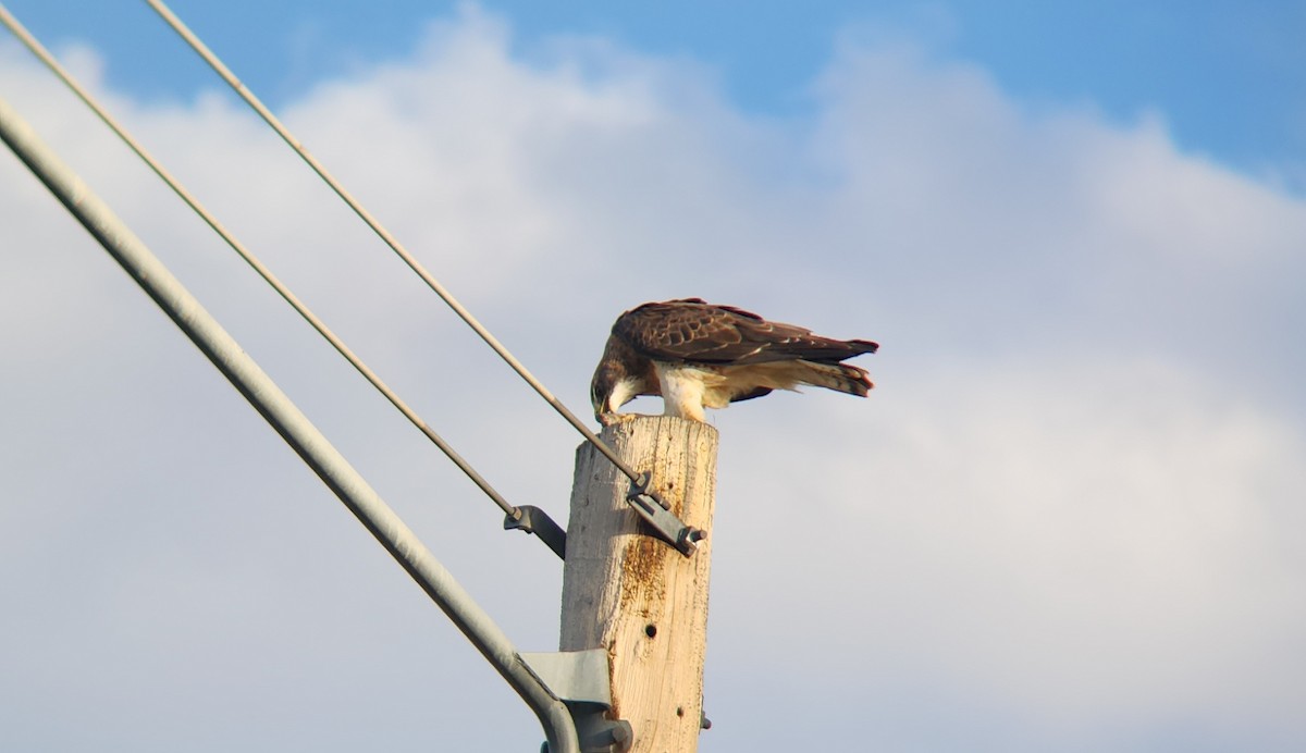
{"type": "Polygon", "coordinates": [[[576,450],[559,649],[606,649],[613,716],[632,753],[692,753],[703,722],[703,660],[716,492],[717,431],[639,416],[601,438],[687,526],[707,531],[686,557],[652,535],[626,501],[631,482],[592,445],[576,450]]]}

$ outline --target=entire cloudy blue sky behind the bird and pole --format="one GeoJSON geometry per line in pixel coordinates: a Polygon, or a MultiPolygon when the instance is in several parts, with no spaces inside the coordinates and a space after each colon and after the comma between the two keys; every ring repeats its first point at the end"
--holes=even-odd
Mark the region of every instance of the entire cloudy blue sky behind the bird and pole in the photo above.
{"type": "MultiPolygon", "coordinates": [[[[172,7],[580,415],[645,300],[882,343],[866,401],[710,416],[703,750],[1299,750],[1306,10],[1062,5],[172,7]]],[[[579,435],[144,4],[7,7],[509,501],[565,519],[579,435]]],[[[0,97],[521,650],[556,646],[545,547],[7,37],[0,97]]],[[[535,749],[3,155],[0,256],[0,748],[535,749]]]]}

